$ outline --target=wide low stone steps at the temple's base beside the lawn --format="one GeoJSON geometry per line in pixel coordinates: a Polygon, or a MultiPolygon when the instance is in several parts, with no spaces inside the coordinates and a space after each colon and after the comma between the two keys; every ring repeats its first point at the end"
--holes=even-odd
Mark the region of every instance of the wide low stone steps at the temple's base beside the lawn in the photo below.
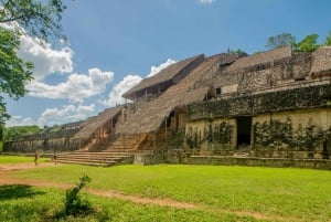
{"type": "Polygon", "coordinates": [[[122,152],[120,150],[113,151],[73,151],[58,154],[56,161],[61,163],[76,163],[96,167],[110,167],[115,165],[132,163],[135,155],[122,152]]]}

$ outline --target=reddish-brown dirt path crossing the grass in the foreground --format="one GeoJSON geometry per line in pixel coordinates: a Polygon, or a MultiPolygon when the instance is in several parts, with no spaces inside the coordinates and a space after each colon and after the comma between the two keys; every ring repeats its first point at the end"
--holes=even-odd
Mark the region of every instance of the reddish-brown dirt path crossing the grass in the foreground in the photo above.
{"type": "MultiPolygon", "coordinates": [[[[46,181],[38,181],[38,180],[29,180],[29,179],[11,179],[8,177],[9,171],[17,171],[17,170],[26,170],[35,168],[34,163],[19,163],[19,165],[0,165],[0,186],[2,184],[28,184],[33,187],[42,187],[42,188],[60,188],[60,189],[70,189],[73,188],[73,184],[64,184],[64,183],[55,183],[55,182],[46,182],[46,181]]],[[[54,163],[47,162],[47,163],[40,163],[38,166],[41,167],[54,167],[54,163]]],[[[171,199],[149,199],[149,198],[142,198],[137,195],[130,195],[130,194],[122,194],[120,192],[114,191],[114,190],[97,190],[88,188],[87,192],[100,195],[100,197],[108,197],[108,198],[116,198],[120,200],[127,200],[135,203],[145,203],[145,204],[154,204],[154,205],[161,205],[161,207],[170,207],[170,208],[178,208],[178,209],[197,209],[197,210],[206,210],[211,212],[217,212],[217,213],[229,213],[229,214],[236,214],[238,216],[252,216],[258,220],[270,220],[270,221],[292,221],[292,219],[289,218],[281,218],[281,216],[268,216],[264,215],[261,213],[255,213],[255,212],[246,212],[246,211],[229,211],[229,210],[223,210],[223,209],[210,209],[207,207],[197,205],[193,203],[186,203],[186,202],[180,202],[171,199]]],[[[300,221],[300,220],[293,220],[293,221],[300,221]]]]}

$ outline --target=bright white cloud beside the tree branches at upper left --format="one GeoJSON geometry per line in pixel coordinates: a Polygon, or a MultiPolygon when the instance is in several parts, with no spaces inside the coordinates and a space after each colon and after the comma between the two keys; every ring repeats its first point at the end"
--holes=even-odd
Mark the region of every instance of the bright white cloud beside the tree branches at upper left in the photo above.
{"type": "Polygon", "coordinates": [[[18,56],[34,64],[33,77],[43,80],[45,76],[58,72],[71,73],[73,71],[74,52],[70,47],[53,50],[51,44],[21,35],[21,45],[18,56]]]}

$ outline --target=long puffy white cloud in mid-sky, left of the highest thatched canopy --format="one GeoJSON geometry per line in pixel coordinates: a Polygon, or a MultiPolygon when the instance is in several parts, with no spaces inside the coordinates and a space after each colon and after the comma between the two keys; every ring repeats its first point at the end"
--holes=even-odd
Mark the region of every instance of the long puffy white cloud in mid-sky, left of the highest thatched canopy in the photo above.
{"type": "Polygon", "coordinates": [[[49,85],[31,81],[26,88],[30,96],[82,103],[84,98],[104,93],[108,83],[113,82],[113,72],[102,72],[99,68],[88,70],[88,74],[71,74],[66,82],[49,85]]]}

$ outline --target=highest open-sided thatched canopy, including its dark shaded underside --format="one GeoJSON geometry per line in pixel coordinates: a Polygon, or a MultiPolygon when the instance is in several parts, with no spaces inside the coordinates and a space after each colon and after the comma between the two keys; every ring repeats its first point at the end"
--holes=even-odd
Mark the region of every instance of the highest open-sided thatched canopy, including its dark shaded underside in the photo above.
{"type": "Polygon", "coordinates": [[[142,80],[134,88],[129,89],[122,95],[125,98],[135,99],[141,97],[146,93],[152,92],[153,94],[164,92],[173,83],[178,83],[185,75],[190,73],[196,65],[204,59],[204,55],[196,55],[180,62],[177,62],[167,68],[160,71],[157,75],[142,80]],[[157,89],[154,89],[157,88],[157,89]],[[160,91],[160,92],[158,92],[160,91]]]}

